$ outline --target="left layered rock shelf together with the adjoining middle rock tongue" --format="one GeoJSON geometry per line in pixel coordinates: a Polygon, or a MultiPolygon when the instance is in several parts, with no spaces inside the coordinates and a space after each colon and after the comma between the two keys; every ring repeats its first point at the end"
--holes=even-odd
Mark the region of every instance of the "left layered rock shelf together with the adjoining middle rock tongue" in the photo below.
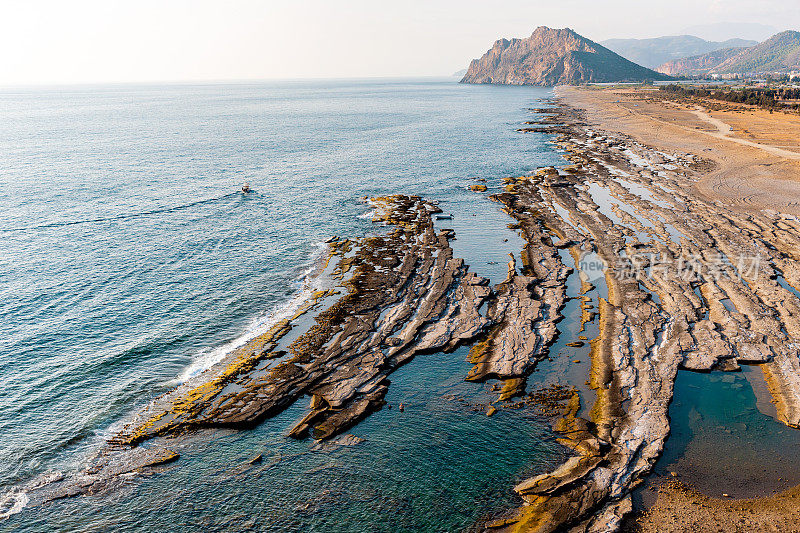
{"type": "Polygon", "coordinates": [[[22,487],[31,505],[157,472],[179,459],[183,440],[252,427],[303,397],[308,412],[289,436],[329,440],[382,408],[388,376],[415,355],[451,352],[490,329],[468,379],[505,381],[504,398],[521,393],[557,335],[571,271],[549,238],[526,230],[524,272],[512,260],[492,288],[453,256],[452,230],[435,230],[435,205],[402,195],[370,203],[390,231],[331,244],[323,274],[336,287],[136,413],[84,471],[22,487]]]}

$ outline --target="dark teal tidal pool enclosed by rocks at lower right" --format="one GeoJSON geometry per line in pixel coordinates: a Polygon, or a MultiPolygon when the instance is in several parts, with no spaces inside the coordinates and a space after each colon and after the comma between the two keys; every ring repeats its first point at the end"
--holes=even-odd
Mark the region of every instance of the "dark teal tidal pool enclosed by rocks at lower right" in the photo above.
{"type": "Polygon", "coordinates": [[[775,420],[761,370],[742,370],[678,373],[671,436],[655,478],[674,472],[717,498],[753,498],[800,485],[800,431],[775,420]]]}

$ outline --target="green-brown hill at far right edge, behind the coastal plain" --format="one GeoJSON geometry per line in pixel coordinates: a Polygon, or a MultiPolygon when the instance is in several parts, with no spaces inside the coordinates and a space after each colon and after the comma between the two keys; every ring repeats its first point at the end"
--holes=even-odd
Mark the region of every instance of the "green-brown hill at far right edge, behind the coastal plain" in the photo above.
{"type": "Polygon", "coordinates": [[[750,48],[711,52],[670,61],[657,69],[670,75],[774,74],[800,70],[800,32],[784,31],[750,48]]]}

